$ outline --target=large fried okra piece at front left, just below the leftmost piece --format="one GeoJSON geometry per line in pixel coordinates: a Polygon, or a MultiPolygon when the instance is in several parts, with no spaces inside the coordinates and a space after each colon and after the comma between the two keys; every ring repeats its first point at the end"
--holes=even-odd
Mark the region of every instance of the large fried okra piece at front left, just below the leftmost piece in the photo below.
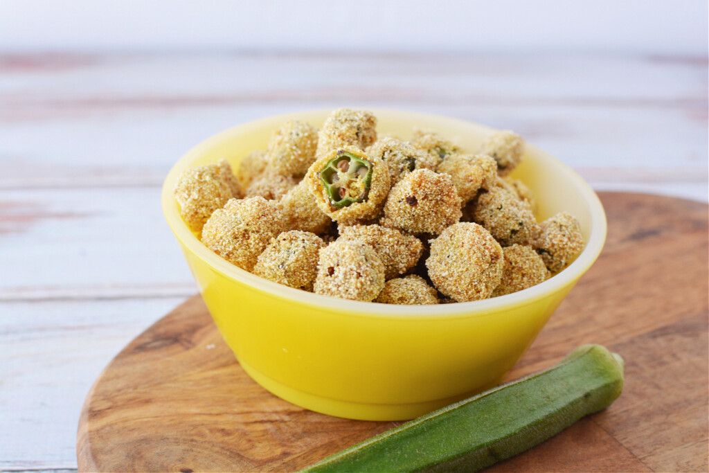
{"type": "Polygon", "coordinates": [[[204,224],[202,243],[233,265],[252,271],[271,238],[283,230],[283,209],[277,201],[231,199],[204,224]]]}

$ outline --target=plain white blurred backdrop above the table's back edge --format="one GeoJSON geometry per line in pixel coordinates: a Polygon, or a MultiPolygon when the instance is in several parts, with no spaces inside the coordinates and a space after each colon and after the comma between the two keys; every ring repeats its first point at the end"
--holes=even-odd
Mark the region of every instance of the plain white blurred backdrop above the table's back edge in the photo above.
{"type": "Polygon", "coordinates": [[[705,55],[703,0],[3,0],[5,51],[705,55]]]}

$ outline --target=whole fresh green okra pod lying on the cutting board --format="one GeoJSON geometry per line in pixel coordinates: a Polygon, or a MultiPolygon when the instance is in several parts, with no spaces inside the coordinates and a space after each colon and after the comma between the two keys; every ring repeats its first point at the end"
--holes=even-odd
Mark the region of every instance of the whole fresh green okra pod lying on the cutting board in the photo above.
{"type": "Polygon", "coordinates": [[[583,345],[562,362],[325,458],[306,472],[474,472],[523,452],[623,390],[623,359],[583,345]]]}

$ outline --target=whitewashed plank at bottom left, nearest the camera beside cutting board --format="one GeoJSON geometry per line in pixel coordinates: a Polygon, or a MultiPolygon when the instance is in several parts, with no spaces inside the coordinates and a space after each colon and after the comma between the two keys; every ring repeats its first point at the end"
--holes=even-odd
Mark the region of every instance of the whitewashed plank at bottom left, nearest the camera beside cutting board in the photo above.
{"type": "Polygon", "coordinates": [[[91,384],[182,301],[0,303],[0,470],[76,468],[79,413],[91,384]]]}

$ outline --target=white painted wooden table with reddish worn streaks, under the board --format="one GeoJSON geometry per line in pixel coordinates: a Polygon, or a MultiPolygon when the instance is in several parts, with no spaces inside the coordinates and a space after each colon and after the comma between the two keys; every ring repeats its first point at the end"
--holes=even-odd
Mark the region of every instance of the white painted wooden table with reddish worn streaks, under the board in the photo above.
{"type": "Polygon", "coordinates": [[[0,471],[77,467],[101,369],[197,289],[160,211],[219,130],[308,108],[511,128],[596,189],[707,200],[707,57],[0,55],[0,471]]]}

